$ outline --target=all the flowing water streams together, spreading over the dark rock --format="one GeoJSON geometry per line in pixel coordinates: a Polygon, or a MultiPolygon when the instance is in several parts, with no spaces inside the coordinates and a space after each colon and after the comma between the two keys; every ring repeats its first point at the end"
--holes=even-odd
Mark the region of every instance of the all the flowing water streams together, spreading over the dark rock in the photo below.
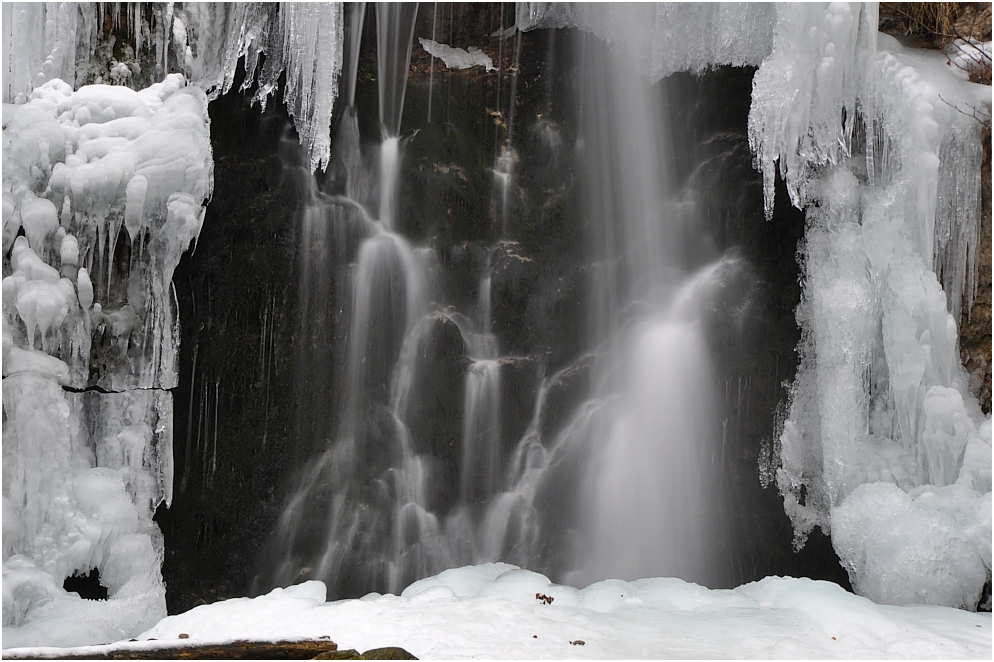
{"type": "MultiPolygon", "coordinates": [[[[415,16],[410,8],[378,5],[376,17],[379,148],[373,159],[363,158],[349,106],[325,186],[334,192],[317,191],[310,179],[303,186],[304,260],[337,262],[351,283],[347,307],[340,306],[348,312],[338,321],[347,329],[343,374],[333,378],[345,394],[326,396],[338,418],[334,428],[323,424],[323,438],[333,441],[320,450],[315,440],[319,459],[281,517],[271,583],[320,578],[333,593],[396,591],[452,565],[496,560],[540,566],[573,582],[667,574],[713,583],[717,426],[702,314],[716,279],[734,278],[736,270],[729,259],[701,269],[719,255],[698,246],[694,215],[672,202],[660,89],[650,88],[625,54],[605,58],[593,39],[578,42],[581,54],[597,51],[584,64],[588,82],[579,98],[592,210],[587,336],[596,357],[594,388],[574,420],[543,439],[545,394],[557,377],[543,380],[532,424],[509,452],[502,449],[505,368],[492,329],[491,288],[494,255],[514,243],[488,251],[473,314],[438,303],[429,266],[435,253],[412,248],[397,216],[400,110],[415,16]],[[317,246],[337,257],[314,256],[317,246]],[[353,266],[343,266],[350,260],[353,266]],[[462,440],[449,474],[418,432],[418,394],[427,379],[421,357],[445,323],[458,329],[467,359],[462,440]],[[455,481],[448,499],[437,485],[444,475],[455,481]],[[571,487],[560,489],[564,482],[571,487]],[[557,549],[539,552],[542,536],[557,549]]],[[[351,39],[359,34],[353,18],[351,39]]],[[[351,100],[358,51],[354,41],[346,46],[351,68],[343,87],[351,100]]],[[[516,40],[515,56],[519,51],[516,40]]],[[[543,144],[551,145],[551,133],[559,145],[548,120],[537,131],[543,144]]],[[[509,131],[491,207],[505,236],[514,154],[509,131]]],[[[328,272],[315,272],[302,285],[302,299],[327,296],[328,280],[328,272]]],[[[331,328],[321,332],[331,335],[331,328]]],[[[304,361],[303,370],[314,368],[304,361]]],[[[301,383],[311,393],[315,386],[301,383]]]]}

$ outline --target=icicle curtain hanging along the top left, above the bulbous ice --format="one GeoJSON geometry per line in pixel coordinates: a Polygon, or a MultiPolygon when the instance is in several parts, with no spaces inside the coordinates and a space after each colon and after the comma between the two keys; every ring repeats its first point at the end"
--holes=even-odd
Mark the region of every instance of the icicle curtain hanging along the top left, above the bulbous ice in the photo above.
{"type": "Polygon", "coordinates": [[[100,27],[120,18],[111,14],[111,5],[4,3],[4,101],[23,100],[53,78],[72,87],[105,78],[136,86],[176,70],[213,99],[231,89],[238,60],[244,57],[241,89],[258,82],[253,101],[263,107],[286,74],[284,102],[308,147],[311,169],[327,166],[342,68],[342,3],[169,2],[142,9],[142,3],[132,2],[115,3],[115,12],[118,4],[125,7],[129,29],[141,26],[130,29],[135,37],[128,52],[134,61],[111,60],[106,68],[92,71],[89,61],[107,40],[100,27]],[[260,67],[262,53],[266,57],[260,67]],[[145,62],[144,70],[139,62],[145,62]]]}

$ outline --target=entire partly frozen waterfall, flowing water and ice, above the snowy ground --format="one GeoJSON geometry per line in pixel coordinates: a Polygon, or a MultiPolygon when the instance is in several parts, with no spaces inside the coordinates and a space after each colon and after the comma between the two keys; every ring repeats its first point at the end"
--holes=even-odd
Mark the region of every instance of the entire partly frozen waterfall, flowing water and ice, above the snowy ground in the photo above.
{"type": "Polygon", "coordinates": [[[958,324],[990,94],[959,56],[872,3],[368,11],[4,5],[5,644],[137,634],[164,557],[263,527],[257,592],[492,561],[728,585],[808,572],[813,534],[860,595],[989,604],[958,324]],[[282,173],[243,121],[277,90],[282,173]],[[759,520],[765,565],[729,532],[759,520]]]}

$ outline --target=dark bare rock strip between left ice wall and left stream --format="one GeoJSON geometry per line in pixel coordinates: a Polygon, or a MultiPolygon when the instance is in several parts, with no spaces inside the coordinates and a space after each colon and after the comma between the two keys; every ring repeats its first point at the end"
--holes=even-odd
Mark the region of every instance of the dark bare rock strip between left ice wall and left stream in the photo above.
{"type": "Polygon", "coordinates": [[[214,196],[173,279],[174,500],[156,514],[170,613],[246,593],[292,454],[297,202],[279,157],[289,122],[279,99],[263,114],[249,98],[210,105],[214,196]]]}

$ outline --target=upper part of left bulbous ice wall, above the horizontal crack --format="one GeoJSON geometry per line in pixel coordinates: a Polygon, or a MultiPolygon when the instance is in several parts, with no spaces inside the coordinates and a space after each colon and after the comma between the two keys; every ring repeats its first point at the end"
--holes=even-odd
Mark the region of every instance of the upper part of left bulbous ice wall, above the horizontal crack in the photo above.
{"type": "Polygon", "coordinates": [[[75,388],[175,387],[169,287],[213,186],[207,97],[178,74],[140,92],[55,79],[3,119],[15,344],[64,361],[75,388]]]}

